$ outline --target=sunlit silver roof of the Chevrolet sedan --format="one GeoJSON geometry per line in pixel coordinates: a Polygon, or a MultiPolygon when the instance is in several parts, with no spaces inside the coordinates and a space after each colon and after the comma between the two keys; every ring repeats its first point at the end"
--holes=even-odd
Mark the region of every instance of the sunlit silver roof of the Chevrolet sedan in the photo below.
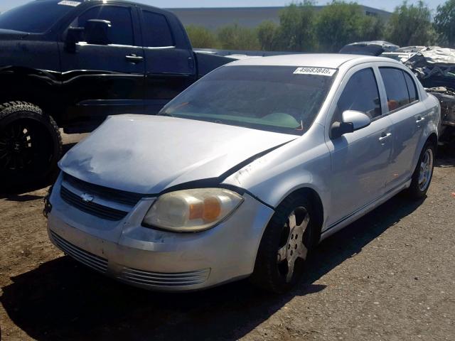
{"type": "Polygon", "coordinates": [[[328,67],[338,69],[344,63],[352,61],[353,63],[369,62],[392,62],[400,65],[390,58],[373,57],[368,55],[343,55],[338,53],[307,53],[300,55],[274,55],[263,58],[250,58],[237,60],[229,63],[227,66],[237,65],[264,65],[264,66],[308,66],[308,67],[328,67]]]}

